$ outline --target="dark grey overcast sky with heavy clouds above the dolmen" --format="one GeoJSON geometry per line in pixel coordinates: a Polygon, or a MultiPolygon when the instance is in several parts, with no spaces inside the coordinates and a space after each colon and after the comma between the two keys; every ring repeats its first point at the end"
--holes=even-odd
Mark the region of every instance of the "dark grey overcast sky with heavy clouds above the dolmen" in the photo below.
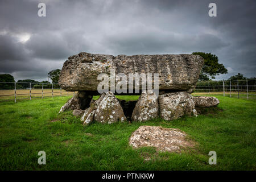
{"type": "Polygon", "coordinates": [[[0,73],[47,80],[81,51],[110,55],[211,52],[256,76],[256,1],[0,0],[0,73]],[[38,3],[46,3],[46,17],[38,3]],[[209,17],[209,3],[217,17],[209,17]]]}

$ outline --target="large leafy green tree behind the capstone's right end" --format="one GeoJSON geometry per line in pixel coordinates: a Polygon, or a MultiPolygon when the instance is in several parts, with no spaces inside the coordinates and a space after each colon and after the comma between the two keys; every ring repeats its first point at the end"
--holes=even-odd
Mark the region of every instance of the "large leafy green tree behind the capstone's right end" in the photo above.
{"type": "Polygon", "coordinates": [[[193,52],[193,55],[200,55],[204,58],[204,65],[201,69],[199,81],[214,79],[216,75],[228,73],[228,69],[223,64],[218,63],[218,57],[211,53],[193,52]]]}

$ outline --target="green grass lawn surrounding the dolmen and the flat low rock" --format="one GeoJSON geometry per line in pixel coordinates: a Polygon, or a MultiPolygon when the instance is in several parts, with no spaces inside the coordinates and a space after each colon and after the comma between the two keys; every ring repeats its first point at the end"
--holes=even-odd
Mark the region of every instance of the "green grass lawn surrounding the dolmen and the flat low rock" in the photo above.
{"type": "MultiPolygon", "coordinates": [[[[136,100],[138,96],[118,96],[136,100]]],[[[70,97],[0,103],[1,170],[255,170],[256,102],[217,96],[218,113],[144,123],[82,126],[72,111],[58,114],[70,97]],[[52,122],[54,121],[54,122],[52,122]],[[180,154],[133,150],[128,143],[141,125],[185,131],[196,148],[180,154]],[[46,151],[46,165],[38,152],[46,151]],[[209,151],[217,165],[209,165],[209,151]],[[151,160],[144,160],[151,158],[151,160]]]]}

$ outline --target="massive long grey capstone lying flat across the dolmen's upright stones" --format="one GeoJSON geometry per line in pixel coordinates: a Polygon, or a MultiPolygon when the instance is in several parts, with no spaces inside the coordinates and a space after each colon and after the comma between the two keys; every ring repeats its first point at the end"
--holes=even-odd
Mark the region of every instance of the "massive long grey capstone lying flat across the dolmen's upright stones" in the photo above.
{"type": "Polygon", "coordinates": [[[129,73],[159,73],[159,90],[192,92],[203,64],[204,59],[199,55],[112,56],[80,52],[65,61],[59,84],[68,91],[97,92],[97,85],[101,82],[97,76],[100,73],[110,75],[110,69],[114,69],[116,75],[125,73],[127,78],[129,73]]]}

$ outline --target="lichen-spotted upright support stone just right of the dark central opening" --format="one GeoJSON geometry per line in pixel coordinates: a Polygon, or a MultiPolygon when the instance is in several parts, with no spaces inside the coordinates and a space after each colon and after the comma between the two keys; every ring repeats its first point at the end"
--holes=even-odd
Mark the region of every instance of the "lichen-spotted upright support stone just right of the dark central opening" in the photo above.
{"type": "Polygon", "coordinates": [[[132,121],[148,121],[158,118],[158,97],[153,90],[143,92],[139,97],[131,116],[132,121]]]}

